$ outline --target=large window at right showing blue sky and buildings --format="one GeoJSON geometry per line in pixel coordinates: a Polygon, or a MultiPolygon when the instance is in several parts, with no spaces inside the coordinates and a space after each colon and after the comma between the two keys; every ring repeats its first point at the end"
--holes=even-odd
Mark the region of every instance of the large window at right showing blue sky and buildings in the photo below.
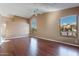
{"type": "Polygon", "coordinates": [[[70,15],[60,19],[60,34],[62,36],[77,36],[77,16],[70,15]]]}

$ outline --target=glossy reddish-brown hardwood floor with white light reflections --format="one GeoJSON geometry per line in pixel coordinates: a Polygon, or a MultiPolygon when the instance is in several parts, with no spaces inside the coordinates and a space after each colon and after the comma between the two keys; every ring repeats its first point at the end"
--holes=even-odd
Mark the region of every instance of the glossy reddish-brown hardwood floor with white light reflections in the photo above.
{"type": "Polygon", "coordinates": [[[0,45],[2,56],[79,56],[79,47],[29,37],[8,40],[0,45]]]}

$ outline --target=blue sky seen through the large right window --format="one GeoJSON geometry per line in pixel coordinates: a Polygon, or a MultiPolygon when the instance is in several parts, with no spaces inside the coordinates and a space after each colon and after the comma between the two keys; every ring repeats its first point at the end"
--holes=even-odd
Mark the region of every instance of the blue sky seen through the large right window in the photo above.
{"type": "Polygon", "coordinates": [[[62,17],[60,22],[61,25],[76,23],[76,15],[62,17]]]}

